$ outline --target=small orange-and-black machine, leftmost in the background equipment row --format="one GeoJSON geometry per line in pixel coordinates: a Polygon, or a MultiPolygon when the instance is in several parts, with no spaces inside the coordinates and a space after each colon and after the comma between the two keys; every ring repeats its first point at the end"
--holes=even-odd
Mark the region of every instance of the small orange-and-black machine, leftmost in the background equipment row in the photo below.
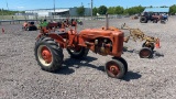
{"type": "Polygon", "coordinates": [[[34,22],[24,22],[22,25],[23,31],[36,31],[37,28],[35,26],[34,22]]]}

